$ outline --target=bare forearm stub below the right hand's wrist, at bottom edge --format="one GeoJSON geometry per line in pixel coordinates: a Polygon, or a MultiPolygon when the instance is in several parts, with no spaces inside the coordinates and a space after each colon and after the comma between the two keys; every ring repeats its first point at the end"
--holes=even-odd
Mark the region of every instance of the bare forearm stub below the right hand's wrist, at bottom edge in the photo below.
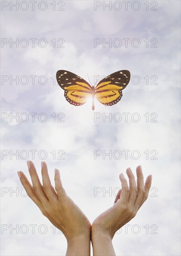
{"type": "Polygon", "coordinates": [[[112,238],[106,234],[92,234],[94,256],[115,256],[112,238]]]}

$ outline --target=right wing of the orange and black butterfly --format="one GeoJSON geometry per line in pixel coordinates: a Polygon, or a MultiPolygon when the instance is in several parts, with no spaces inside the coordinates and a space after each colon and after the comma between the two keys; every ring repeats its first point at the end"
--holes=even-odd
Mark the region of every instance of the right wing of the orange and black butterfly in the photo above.
{"type": "Polygon", "coordinates": [[[130,72],[120,70],[102,79],[95,88],[95,98],[106,106],[121,100],[122,90],[130,81],[130,72]]]}

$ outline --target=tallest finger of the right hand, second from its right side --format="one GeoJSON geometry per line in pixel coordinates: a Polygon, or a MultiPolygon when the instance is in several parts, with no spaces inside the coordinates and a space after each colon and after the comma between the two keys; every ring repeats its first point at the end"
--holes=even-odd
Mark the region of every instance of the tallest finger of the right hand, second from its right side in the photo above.
{"type": "Polygon", "coordinates": [[[144,179],[143,179],[141,165],[137,166],[136,175],[137,175],[138,195],[136,197],[134,205],[135,205],[136,209],[139,209],[141,201],[142,201],[143,197],[145,196],[144,179]]]}

